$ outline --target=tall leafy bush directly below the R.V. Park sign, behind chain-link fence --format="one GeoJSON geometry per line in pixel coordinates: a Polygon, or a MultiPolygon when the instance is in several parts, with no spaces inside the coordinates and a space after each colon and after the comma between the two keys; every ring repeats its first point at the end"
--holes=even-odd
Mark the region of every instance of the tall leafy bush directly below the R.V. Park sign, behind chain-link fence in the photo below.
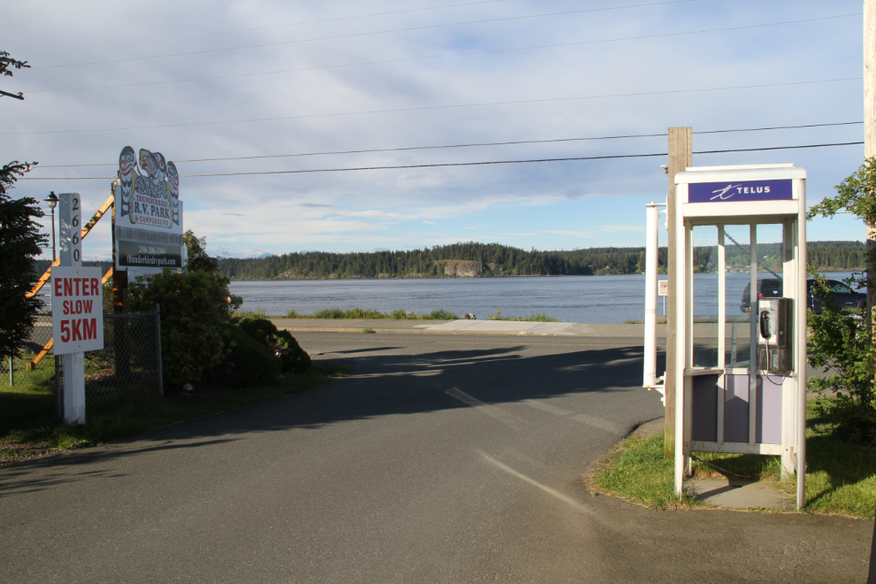
{"type": "Polygon", "coordinates": [[[237,308],[228,279],[218,273],[165,270],[149,282],[129,284],[133,311],[161,308],[161,354],[165,380],[173,385],[201,379],[204,369],[222,362],[222,327],[237,308]]]}

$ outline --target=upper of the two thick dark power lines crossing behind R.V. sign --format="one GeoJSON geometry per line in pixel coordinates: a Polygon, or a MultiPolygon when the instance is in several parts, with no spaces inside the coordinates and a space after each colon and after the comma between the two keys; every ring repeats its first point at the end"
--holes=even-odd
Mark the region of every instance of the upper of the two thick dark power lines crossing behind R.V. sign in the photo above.
{"type": "MultiPolygon", "coordinates": [[[[733,132],[763,132],[766,130],[791,130],[807,127],[835,127],[835,126],[853,126],[863,124],[863,121],[857,122],[836,122],[831,124],[804,124],[802,126],[773,126],[773,127],[751,127],[735,130],[703,130],[702,132],[694,132],[694,134],[726,134],[733,132]]],[[[470,144],[446,144],[442,146],[408,146],[404,148],[375,148],[370,150],[334,150],[330,152],[304,152],[299,154],[266,154],[262,156],[239,156],[227,158],[188,158],[183,160],[174,160],[174,163],[183,162],[219,162],[228,160],[256,160],[261,158],[298,158],[305,156],[327,156],[335,154],[368,154],[377,152],[403,152],[408,150],[445,150],[451,148],[476,148],[482,146],[509,146],[519,144],[546,144],[557,142],[588,142],[596,140],[622,140],[626,138],[657,138],[665,136],[666,133],[660,134],[626,134],[617,136],[598,136],[589,138],[557,138],[553,140],[516,140],[513,142],[474,142],[470,144]]],[[[83,166],[117,166],[117,163],[98,163],[88,165],[39,165],[35,166],[35,170],[42,168],[80,168],[83,166]]]]}

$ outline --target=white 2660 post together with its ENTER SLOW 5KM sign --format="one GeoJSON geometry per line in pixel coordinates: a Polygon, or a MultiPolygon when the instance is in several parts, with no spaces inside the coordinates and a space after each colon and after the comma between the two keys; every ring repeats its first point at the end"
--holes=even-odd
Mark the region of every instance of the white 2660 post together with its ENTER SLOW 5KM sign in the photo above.
{"type": "Polygon", "coordinates": [[[104,348],[100,268],[82,267],[82,202],[76,193],[58,196],[60,266],[51,271],[52,334],[61,356],[64,419],[85,423],[85,356],[104,348]]]}

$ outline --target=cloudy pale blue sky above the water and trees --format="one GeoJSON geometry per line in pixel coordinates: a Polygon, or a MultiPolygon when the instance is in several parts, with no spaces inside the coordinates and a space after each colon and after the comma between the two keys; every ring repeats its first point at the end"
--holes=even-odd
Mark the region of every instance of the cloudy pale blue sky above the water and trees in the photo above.
{"type": "MultiPolygon", "coordinates": [[[[31,65],[0,78],[25,96],[0,97],[0,161],[39,162],[12,196],[78,192],[89,215],[122,148],[158,151],[211,255],[642,246],[644,205],[667,193],[665,157],[289,171],[660,154],[689,126],[694,165],[794,163],[815,204],[864,161],[863,145],[697,154],[863,141],[859,123],[714,133],[861,122],[860,0],[0,9],[0,50],[31,65]],[[531,141],[562,142],[496,144],[531,141]],[[470,144],[492,145],[423,148],[470,144]]],[[[814,219],[808,239],[863,241],[864,225],[814,219]]],[[[83,256],[111,257],[109,217],[83,256]]]]}

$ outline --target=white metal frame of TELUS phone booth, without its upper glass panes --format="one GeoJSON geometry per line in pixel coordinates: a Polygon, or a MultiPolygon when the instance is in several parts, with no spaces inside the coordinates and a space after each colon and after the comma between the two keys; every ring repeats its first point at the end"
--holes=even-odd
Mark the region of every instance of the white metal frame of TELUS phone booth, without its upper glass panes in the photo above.
{"type": "Polygon", "coordinates": [[[675,176],[675,210],[675,493],[682,493],[694,451],[777,455],[784,476],[797,473],[800,509],[806,474],[806,171],[790,164],[689,167],[675,176]],[[792,302],[791,371],[781,376],[757,367],[757,225],[763,224],[782,226],[782,296],[792,302]],[[726,367],[726,225],[750,230],[747,368],[726,367]],[[696,226],[718,228],[714,367],[693,361],[696,226]]]}

